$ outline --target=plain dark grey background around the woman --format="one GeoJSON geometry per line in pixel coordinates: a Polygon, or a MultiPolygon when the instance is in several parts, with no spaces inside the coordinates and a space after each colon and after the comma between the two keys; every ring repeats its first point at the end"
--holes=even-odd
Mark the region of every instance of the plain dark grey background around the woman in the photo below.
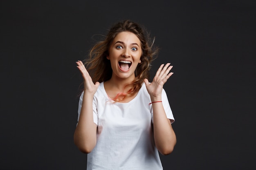
{"type": "Polygon", "coordinates": [[[0,169],[84,170],[73,143],[83,60],[121,19],[161,47],[177,145],[165,170],[255,170],[256,3],[0,1],[0,169]],[[99,37],[94,37],[99,38],[99,37]]]}

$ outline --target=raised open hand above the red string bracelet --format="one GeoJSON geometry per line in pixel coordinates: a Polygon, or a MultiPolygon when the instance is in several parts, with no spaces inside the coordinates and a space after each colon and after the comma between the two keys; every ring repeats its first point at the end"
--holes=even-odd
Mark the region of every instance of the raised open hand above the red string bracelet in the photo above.
{"type": "Polygon", "coordinates": [[[173,75],[173,72],[170,72],[172,68],[173,66],[170,66],[170,63],[167,63],[165,66],[161,64],[155,74],[153,82],[149,83],[148,79],[144,79],[151,101],[161,99],[162,88],[171,75],[173,75]]]}

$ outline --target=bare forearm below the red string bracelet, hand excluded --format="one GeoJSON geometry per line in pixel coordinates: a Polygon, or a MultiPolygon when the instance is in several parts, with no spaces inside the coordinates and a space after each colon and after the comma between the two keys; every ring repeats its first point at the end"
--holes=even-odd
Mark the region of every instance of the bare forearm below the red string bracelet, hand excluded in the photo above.
{"type": "Polygon", "coordinates": [[[155,145],[162,155],[168,155],[176,144],[176,135],[166,117],[162,102],[152,104],[155,145]]]}

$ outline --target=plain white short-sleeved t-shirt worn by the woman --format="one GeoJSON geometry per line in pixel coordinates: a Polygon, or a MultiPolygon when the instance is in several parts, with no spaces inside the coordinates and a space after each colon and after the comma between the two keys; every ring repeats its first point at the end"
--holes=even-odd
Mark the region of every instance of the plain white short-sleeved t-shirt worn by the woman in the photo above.
{"type": "MultiPolygon", "coordinates": [[[[80,96],[78,120],[83,93],[80,96]]],[[[153,109],[143,83],[128,103],[112,102],[103,82],[93,98],[93,118],[97,124],[97,144],[87,155],[87,170],[162,170],[153,137],[153,109]]],[[[166,116],[174,122],[166,92],[162,91],[166,116]]]]}

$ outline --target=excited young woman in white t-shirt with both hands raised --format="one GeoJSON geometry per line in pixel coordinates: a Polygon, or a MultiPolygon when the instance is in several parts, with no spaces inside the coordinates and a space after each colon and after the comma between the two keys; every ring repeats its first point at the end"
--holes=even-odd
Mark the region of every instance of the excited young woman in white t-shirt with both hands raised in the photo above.
{"type": "Polygon", "coordinates": [[[118,22],[85,64],[76,62],[84,89],[74,143],[88,153],[88,170],[162,170],[159,152],[173,151],[174,117],[163,89],[172,66],[162,64],[148,82],[158,52],[148,35],[137,23],[118,22]]]}

